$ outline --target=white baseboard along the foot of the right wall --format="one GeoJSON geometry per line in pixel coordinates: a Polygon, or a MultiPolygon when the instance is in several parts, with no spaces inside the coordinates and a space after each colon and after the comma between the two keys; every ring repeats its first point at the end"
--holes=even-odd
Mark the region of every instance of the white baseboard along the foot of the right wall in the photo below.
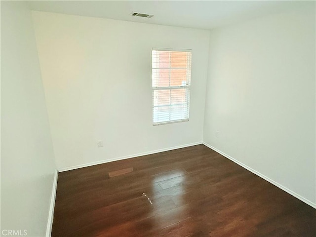
{"type": "Polygon", "coordinates": [[[268,178],[267,176],[265,176],[265,175],[259,173],[258,171],[256,171],[256,170],[250,168],[249,166],[247,166],[247,165],[241,163],[241,162],[238,161],[237,159],[232,158],[231,156],[229,156],[229,155],[225,154],[224,152],[222,152],[222,151],[216,149],[215,147],[212,147],[211,145],[209,145],[209,144],[207,144],[207,143],[205,143],[205,142],[203,142],[202,144],[205,145],[206,147],[212,149],[213,151],[215,151],[215,152],[221,154],[222,156],[224,156],[224,157],[226,157],[226,158],[232,160],[233,162],[235,162],[235,163],[237,163],[238,165],[240,165],[241,167],[243,167],[243,168],[249,170],[250,172],[254,173],[255,175],[258,175],[260,178],[263,178],[264,180],[266,180],[266,181],[268,181],[269,183],[275,185],[276,187],[278,187],[278,188],[280,188],[281,190],[285,191],[286,193],[292,195],[293,197],[296,197],[296,198],[300,199],[301,201],[305,202],[306,204],[308,204],[308,205],[310,205],[310,206],[316,208],[316,203],[314,203],[314,202],[312,202],[312,201],[306,199],[305,197],[302,197],[302,196],[298,195],[297,193],[295,193],[295,192],[289,190],[288,188],[285,188],[284,186],[282,186],[281,184],[277,183],[276,181],[274,181],[274,180],[268,178]]]}

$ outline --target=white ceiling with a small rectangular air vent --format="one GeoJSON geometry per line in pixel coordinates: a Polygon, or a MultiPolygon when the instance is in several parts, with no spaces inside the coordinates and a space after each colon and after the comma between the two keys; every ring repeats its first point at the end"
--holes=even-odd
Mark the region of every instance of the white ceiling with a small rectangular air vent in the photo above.
{"type": "Polygon", "coordinates": [[[198,29],[213,29],[264,15],[295,10],[309,4],[315,7],[314,1],[273,0],[36,0],[28,2],[32,10],[198,29]],[[154,17],[131,16],[132,11],[151,14],[154,17]]]}

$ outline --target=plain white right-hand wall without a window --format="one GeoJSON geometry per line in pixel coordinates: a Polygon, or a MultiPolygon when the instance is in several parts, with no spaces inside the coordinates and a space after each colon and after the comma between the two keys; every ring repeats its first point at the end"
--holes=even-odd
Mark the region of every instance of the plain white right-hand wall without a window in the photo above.
{"type": "Polygon", "coordinates": [[[315,204],[315,1],[309,4],[211,31],[203,139],[315,204]]]}

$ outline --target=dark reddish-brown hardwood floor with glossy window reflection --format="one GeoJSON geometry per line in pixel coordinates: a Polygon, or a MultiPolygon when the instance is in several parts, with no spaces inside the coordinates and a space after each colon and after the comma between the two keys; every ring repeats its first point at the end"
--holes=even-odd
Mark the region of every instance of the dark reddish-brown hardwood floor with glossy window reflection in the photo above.
{"type": "Polygon", "coordinates": [[[315,237],[316,209],[197,145],[59,173],[52,236],[315,237]]]}

